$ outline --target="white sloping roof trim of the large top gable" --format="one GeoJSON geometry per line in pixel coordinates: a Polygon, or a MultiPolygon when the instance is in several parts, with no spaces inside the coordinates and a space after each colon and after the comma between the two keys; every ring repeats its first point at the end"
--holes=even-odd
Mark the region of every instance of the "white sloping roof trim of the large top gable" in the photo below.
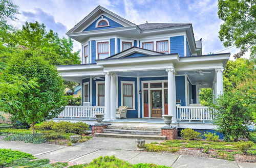
{"type": "Polygon", "coordinates": [[[81,21],[79,21],[71,30],[69,30],[67,32],[67,34],[78,32],[79,30],[82,29],[82,27],[86,26],[89,23],[89,21],[91,21],[92,19],[95,19],[95,17],[97,17],[101,13],[107,13],[107,14],[115,17],[116,19],[120,20],[123,24],[125,24],[125,26],[136,26],[136,24],[130,22],[129,20],[126,20],[126,19],[120,17],[119,15],[117,15],[99,5],[91,13],[89,13],[86,17],[84,17],[81,21]],[[87,21],[88,21],[88,23],[86,23],[87,21]]]}

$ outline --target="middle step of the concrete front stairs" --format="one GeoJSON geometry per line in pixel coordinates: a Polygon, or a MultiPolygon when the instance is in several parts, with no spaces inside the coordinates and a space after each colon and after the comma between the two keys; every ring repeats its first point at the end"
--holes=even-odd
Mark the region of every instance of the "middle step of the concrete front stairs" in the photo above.
{"type": "Polygon", "coordinates": [[[161,135],[161,131],[129,130],[129,129],[103,129],[103,133],[137,134],[137,135],[161,135]]]}

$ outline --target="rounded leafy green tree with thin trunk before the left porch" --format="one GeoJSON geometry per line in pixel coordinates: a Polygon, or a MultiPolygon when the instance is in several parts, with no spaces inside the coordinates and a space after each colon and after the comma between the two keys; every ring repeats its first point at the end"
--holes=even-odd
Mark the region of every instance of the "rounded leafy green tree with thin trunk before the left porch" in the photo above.
{"type": "Polygon", "coordinates": [[[42,57],[43,54],[31,49],[20,50],[3,71],[4,75],[20,74],[28,80],[37,79],[38,87],[17,93],[20,106],[9,111],[15,118],[29,123],[32,134],[36,123],[56,117],[67,103],[63,79],[56,67],[42,57]]]}

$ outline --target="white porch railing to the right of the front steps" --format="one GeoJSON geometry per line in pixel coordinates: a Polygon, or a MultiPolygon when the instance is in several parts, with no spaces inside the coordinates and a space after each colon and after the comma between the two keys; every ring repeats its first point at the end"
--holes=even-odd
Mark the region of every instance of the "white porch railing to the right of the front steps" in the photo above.
{"type": "Polygon", "coordinates": [[[182,121],[212,121],[214,115],[212,115],[210,109],[205,106],[180,106],[177,105],[177,120],[182,121]]]}

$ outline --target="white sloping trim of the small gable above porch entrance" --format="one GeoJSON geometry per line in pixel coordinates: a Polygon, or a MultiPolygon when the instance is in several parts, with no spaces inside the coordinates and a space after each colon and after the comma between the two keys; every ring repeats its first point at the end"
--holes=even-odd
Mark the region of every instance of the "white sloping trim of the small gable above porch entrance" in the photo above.
{"type": "Polygon", "coordinates": [[[152,50],[143,49],[143,48],[139,48],[139,47],[132,47],[132,48],[126,49],[124,51],[121,51],[119,53],[116,53],[116,54],[114,54],[111,57],[108,57],[106,59],[125,58],[125,57],[128,57],[129,55],[131,55],[133,53],[141,53],[142,55],[143,54],[144,55],[160,55],[160,54],[164,54],[162,52],[152,51],[152,50]]]}

